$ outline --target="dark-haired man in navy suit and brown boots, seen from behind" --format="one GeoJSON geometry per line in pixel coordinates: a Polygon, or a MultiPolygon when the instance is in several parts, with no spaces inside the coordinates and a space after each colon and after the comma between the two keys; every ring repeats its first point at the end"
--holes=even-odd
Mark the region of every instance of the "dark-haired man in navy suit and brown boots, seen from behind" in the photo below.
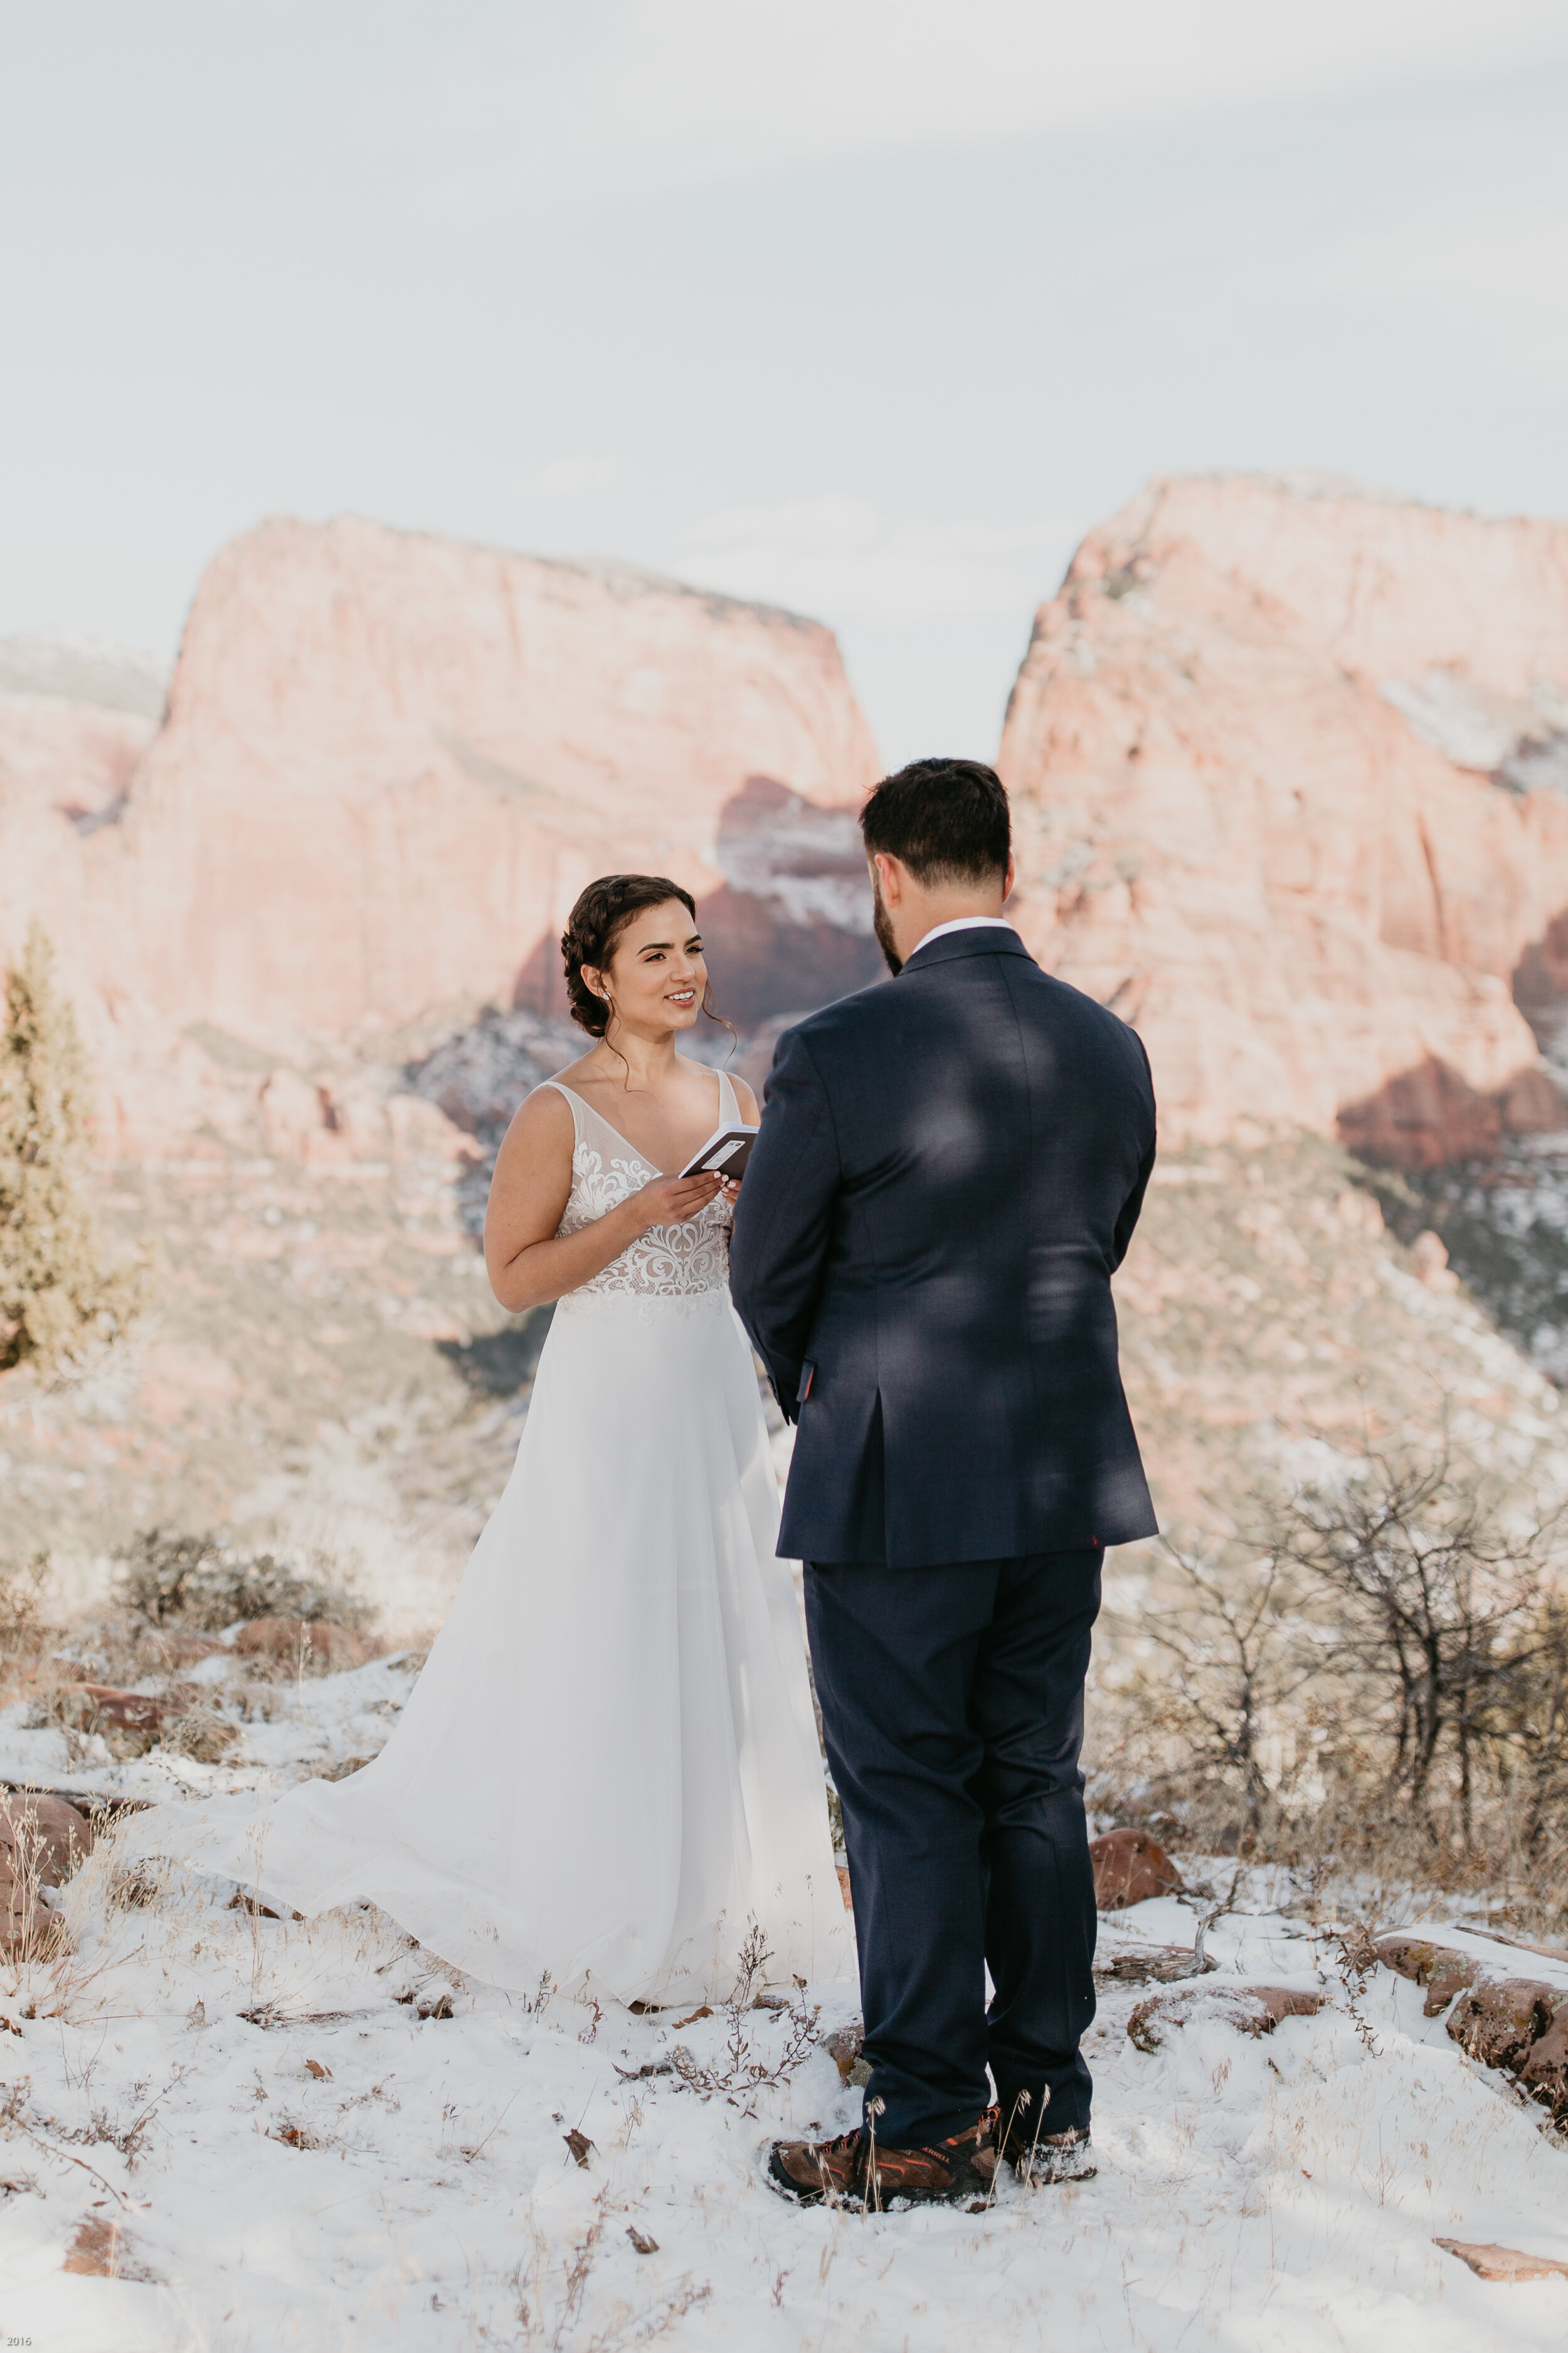
{"type": "Polygon", "coordinates": [[[1006,922],[990,767],[917,760],[860,831],[896,979],[780,1038],[731,1292],[797,1424],[778,1548],[806,1562],[872,2071],[865,2127],[769,2174],[886,2205],[999,2158],[1093,2172],[1079,1746],[1105,1546],[1154,1534],[1110,1294],[1154,1089],[1006,922]]]}

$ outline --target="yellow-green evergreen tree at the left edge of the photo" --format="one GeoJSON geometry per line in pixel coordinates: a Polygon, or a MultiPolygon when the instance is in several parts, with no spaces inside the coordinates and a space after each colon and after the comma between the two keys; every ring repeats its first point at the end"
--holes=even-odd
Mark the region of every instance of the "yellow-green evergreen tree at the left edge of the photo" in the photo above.
{"type": "Polygon", "coordinates": [[[92,1219],[87,1068],[54,953],[33,925],[0,1031],[0,1372],[59,1372],[120,1334],[143,1266],[106,1266],[92,1219]]]}

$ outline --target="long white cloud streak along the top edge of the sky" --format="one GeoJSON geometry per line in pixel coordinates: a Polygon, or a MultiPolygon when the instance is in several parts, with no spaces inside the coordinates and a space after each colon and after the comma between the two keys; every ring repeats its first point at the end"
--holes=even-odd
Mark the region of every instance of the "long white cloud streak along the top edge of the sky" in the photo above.
{"type": "Polygon", "coordinates": [[[1561,0],[583,0],[428,61],[416,122],[444,125],[442,200],[489,207],[1563,54],[1561,0]]]}

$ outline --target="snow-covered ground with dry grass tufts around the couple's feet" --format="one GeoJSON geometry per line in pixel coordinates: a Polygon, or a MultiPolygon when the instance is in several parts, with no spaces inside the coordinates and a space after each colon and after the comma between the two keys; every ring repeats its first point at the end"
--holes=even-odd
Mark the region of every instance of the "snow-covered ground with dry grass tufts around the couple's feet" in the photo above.
{"type": "MultiPolygon", "coordinates": [[[[80,1744],[73,1760],[9,1711],[0,1774],[160,1800],[282,1784],[371,1753],[407,1687],[381,1661],[287,1689],[223,1767],[80,1744]]],[[[1126,2038],[1150,1988],[1107,1984],[1098,2179],[1006,2177],[978,2214],[860,2217],[797,2212],[762,2179],[778,2132],[853,2120],[823,2049],[750,2094],[703,2097],[668,2066],[679,2047],[724,2082],[738,2033],[743,2073],[776,2068],[788,2009],[529,2007],[456,1981],[378,1913],[259,1920],[226,1882],[129,1868],[110,1840],[61,1897],[75,1953],[0,1969],[0,2337],[40,2353],[1561,2348],[1568,2278],[1488,2285],[1434,2245],[1568,2261],[1568,2151],[1540,2111],[1403,1979],[1375,1969],[1356,2017],[1284,1880],[1237,1897],[1208,1932],[1208,1986],[1314,1988],[1319,2017],[1258,2042],[1199,2021],[1150,2057],[1126,2038]],[[63,2271],[73,2247],[118,2275],[63,2271]]],[[[1192,1946],[1201,1908],[1103,1920],[1100,1960],[1192,1946]]],[[[1500,1974],[1568,1986],[1566,1965],[1465,1941],[1500,1974]]],[[[856,2012],[851,1988],[806,2000],[816,2033],[856,2012]]]]}

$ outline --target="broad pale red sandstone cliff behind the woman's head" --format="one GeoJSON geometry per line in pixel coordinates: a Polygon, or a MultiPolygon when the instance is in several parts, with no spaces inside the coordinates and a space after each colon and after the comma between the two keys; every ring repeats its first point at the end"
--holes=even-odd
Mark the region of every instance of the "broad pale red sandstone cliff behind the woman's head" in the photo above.
{"type": "Polygon", "coordinates": [[[0,955],[42,918],[122,1141],[212,1115],[214,1035],[308,1064],[552,1012],[616,868],[698,894],[748,1026],[877,969],[877,751],[832,631],[635,567],[268,518],[207,567],[165,725],[113,751],[110,786],[108,751],[24,760],[0,718],[0,955]]]}

